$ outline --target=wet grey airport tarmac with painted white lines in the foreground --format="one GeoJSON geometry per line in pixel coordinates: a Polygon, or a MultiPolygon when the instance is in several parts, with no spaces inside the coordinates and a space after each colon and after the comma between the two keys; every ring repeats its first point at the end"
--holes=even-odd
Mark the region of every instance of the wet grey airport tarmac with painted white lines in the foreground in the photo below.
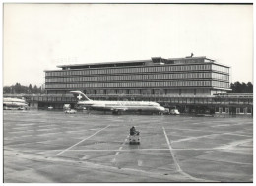
{"type": "Polygon", "coordinates": [[[3,112],[5,183],[252,182],[252,118],[3,112]],[[135,126],[140,145],[129,145],[135,126]]]}

